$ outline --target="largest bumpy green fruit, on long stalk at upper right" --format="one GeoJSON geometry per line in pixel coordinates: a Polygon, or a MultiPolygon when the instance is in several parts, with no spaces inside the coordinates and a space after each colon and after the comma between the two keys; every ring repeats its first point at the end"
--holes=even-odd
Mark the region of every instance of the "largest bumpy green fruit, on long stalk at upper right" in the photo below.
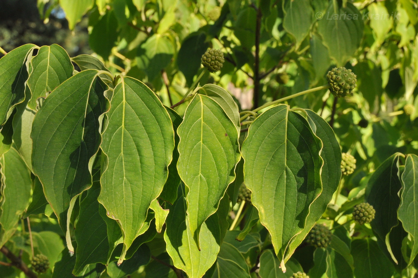
{"type": "Polygon", "coordinates": [[[326,80],[331,86],[330,91],[335,97],[345,97],[353,93],[356,88],[357,76],[351,69],[345,67],[334,67],[326,74],[326,80]]]}

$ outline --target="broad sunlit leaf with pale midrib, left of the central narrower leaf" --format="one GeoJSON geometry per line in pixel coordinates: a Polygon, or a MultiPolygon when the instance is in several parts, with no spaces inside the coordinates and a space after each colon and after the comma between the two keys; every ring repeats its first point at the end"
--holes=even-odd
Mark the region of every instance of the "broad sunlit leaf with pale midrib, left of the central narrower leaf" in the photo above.
{"type": "Polygon", "coordinates": [[[99,202],[122,229],[124,248],[118,262],[122,263],[126,250],[140,235],[151,202],[166,183],[174,131],[161,101],[132,77],[123,77],[115,87],[106,118],[99,202]]]}

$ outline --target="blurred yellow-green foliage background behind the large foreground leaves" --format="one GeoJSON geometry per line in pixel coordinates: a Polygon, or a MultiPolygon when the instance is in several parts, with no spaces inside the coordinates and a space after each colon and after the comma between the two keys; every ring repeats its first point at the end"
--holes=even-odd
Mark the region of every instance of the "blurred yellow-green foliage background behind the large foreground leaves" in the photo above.
{"type": "MultiPolygon", "coordinates": [[[[0,18],[3,54],[27,43],[59,44],[76,71],[91,68],[83,64],[84,56],[77,55],[92,54],[97,59],[89,61],[97,62],[100,69],[144,82],[166,106],[178,103],[189,88],[194,90],[196,84],[192,84],[201,74],[201,86],[219,85],[232,95],[240,111],[246,111],[324,85],[326,73],[334,67],[352,69],[357,75],[353,95],[334,98],[324,89],[284,102],[320,115],[333,128],[341,151],[356,159],[354,172],[343,176],[318,221],[332,229],[334,245],[315,248],[302,242],[294,247],[283,274],[257,210],[249,202],[240,206],[235,201],[242,183],[237,170],[234,188],[228,189],[232,201],[228,223],[217,215],[221,234],[226,233],[224,243],[217,263],[204,277],[290,277],[299,270],[311,278],[414,277],[418,219],[411,215],[418,209],[414,201],[413,209],[402,209],[400,200],[415,194],[398,192],[405,155],[418,154],[416,0],[3,0],[0,18]],[[201,67],[201,56],[209,47],[220,49],[225,58],[221,71],[211,74],[201,67]],[[377,211],[372,225],[351,222],[353,207],[363,201],[377,211]],[[232,229],[226,232],[227,227],[232,229]],[[235,238],[241,232],[247,236],[238,242],[235,238]]],[[[177,106],[176,112],[183,116],[187,105],[177,106]]],[[[15,129],[11,120],[3,126],[3,143],[11,126],[15,129]]],[[[248,125],[241,128],[242,143],[248,125]]],[[[31,154],[22,153],[23,145],[14,133],[12,148],[6,154],[2,149],[0,245],[5,244],[25,265],[31,265],[33,254],[46,255],[49,269],[38,277],[73,277],[76,262],[66,247],[66,225],[61,229],[47,203],[36,207],[45,197],[28,166],[31,154]],[[21,197],[17,212],[16,203],[9,205],[4,191],[8,159],[16,159],[14,168],[26,171],[16,182],[26,185],[26,191],[17,191],[21,197]],[[6,219],[8,209],[14,217],[6,219]],[[25,219],[19,221],[19,216],[25,219]]],[[[417,166],[411,171],[418,173],[417,166]]],[[[415,183],[416,178],[411,178],[410,184],[415,183]]],[[[87,190],[82,201],[74,204],[72,224],[82,221],[77,218],[85,213],[82,202],[97,203],[98,191],[93,189],[97,188],[87,190]]],[[[227,201],[220,206],[227,207],[227,201]]],[[[109,234],[109,226],[101,232],[109,234]]],[[[80,241],[73,232],[69,242],[72,239],[76,247],[80,241]]],[[[119,267],[118,257],[112,257],[107,266],[97,263],[84,268],[77,263],[81,269],[75,274],[86,278],[186,276],[173,266],[178,262],[166,252],[163,234],[147,235],[148,242],[141,239],[147,243],[119,267]]],[[[4,262],[1,278],[25,275],[21,268],[8,265],[10,257],[4,252],[0,261],[4,262]]],[[[203,275],[186,272],[193,278],[203,275]]]]}

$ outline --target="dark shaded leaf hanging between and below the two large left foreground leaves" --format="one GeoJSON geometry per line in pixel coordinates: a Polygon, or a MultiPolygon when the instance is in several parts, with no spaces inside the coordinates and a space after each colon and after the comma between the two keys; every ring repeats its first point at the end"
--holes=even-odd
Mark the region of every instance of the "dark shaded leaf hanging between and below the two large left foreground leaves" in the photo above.
{"type": "MultiPolygon", "coordinates": [[[[97,166],[100,167],[100,164],[97,166]]],[[[82,273],[86,265],[106,264],[109,253],[107,226],[99,211],[102,205],[97,201],[100,193],[100,170],[94,167],[92,176],[92,187],[87,190],[87,196],[80,202],[80,212],[75,229],[77,249],[74,275],[82,273]]]]}

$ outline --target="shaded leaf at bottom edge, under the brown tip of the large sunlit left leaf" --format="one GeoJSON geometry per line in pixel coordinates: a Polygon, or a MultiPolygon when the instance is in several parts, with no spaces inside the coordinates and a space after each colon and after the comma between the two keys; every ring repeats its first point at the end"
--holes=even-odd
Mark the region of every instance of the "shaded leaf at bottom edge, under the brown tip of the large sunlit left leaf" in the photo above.
{"type": "Polygon", "coordinates": [[[129,259],[125,260],[121,265],[117,265],[116,262],[112,262],[107,265],[107,274],[110,278],[123,278],[132,274],[141,265],[146,265],[150,262],[151,252],[147,245],[141,245],[138,251],[129,259]]]}

